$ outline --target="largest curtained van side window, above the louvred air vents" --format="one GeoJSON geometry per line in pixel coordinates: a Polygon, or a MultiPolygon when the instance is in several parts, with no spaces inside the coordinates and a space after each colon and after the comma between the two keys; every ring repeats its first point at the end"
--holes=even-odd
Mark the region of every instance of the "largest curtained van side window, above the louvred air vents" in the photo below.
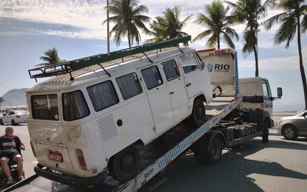
{"type": "Polygon", "coordinates": [[[103,110],[119,102],[111,81],[105,81],[86,88],[95,111],[103,110]]]}

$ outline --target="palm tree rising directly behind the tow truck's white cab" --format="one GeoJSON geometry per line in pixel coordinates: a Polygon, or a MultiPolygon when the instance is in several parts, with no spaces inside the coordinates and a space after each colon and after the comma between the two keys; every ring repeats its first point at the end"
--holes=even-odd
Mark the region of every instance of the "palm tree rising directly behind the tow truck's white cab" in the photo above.
{"type": "MultiPolygon", "coordinates": [[[[227,1],[226,1],[227,2],[227,1]]],[[[256,72],[255,76],[258,77],[258,57],[257,57],[257,37],[256,32],[258,30],[257,18],[267,12],[270,6],[273,5],[271,0],[265,1],[261,4],[261,0],[238,0],[235,3],[227,2],[233,9],[231,15],[238,22],[246,23],[246,27],[243,31],[243,57],[247,57],[252,52],[255,54],[256,72]]]]}

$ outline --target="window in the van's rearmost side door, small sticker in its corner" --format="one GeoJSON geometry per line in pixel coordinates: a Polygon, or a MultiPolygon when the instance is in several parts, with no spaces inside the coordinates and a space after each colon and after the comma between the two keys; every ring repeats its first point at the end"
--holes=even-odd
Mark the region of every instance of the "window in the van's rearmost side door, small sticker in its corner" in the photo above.
{"type": "Polygon", "coordinates": [[[163,84],[163,80],[156,65],[142,69],[141,73],[148,90],[163,84]]]}

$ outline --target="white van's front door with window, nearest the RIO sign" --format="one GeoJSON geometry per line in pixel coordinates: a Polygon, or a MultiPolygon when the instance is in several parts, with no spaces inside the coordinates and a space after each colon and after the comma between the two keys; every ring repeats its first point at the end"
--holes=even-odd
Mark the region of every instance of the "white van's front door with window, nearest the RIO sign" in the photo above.
{"type": "Polygon", "coordinates": [[[207,76],[201,70],[200,62],[196,61],[196,57],[197,55],[195,53],[188,53],[179,57],[179,62],[184,71],[185,85],[189,99],[200,92],[204,92],[204,86],[202,85],[206,84],[207,76]]]}

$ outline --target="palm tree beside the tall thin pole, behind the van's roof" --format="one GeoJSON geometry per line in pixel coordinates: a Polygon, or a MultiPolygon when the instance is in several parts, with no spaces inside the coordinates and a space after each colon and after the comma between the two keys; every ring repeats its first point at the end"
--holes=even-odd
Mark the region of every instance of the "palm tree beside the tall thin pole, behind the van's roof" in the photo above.
{"type": "Polygon", "coordinates": [[[116,42],[117,47],[125,37],[128,37],[129,47],[133,45],[134,40],[139,44],[141,36],[138,28],[142,29],[142,31],[149,31],[145,23],[150,22],[150,17],[140,15],[148,13],[148,8],[138,4],[138,0],[111,0],[109,6],[104,7],[109,14],[115,15],[104,20],[102,24],[106,22],[115,23],[108,35],[111,37],[112,33],[115,33],[113,40],[116,42]]]}

